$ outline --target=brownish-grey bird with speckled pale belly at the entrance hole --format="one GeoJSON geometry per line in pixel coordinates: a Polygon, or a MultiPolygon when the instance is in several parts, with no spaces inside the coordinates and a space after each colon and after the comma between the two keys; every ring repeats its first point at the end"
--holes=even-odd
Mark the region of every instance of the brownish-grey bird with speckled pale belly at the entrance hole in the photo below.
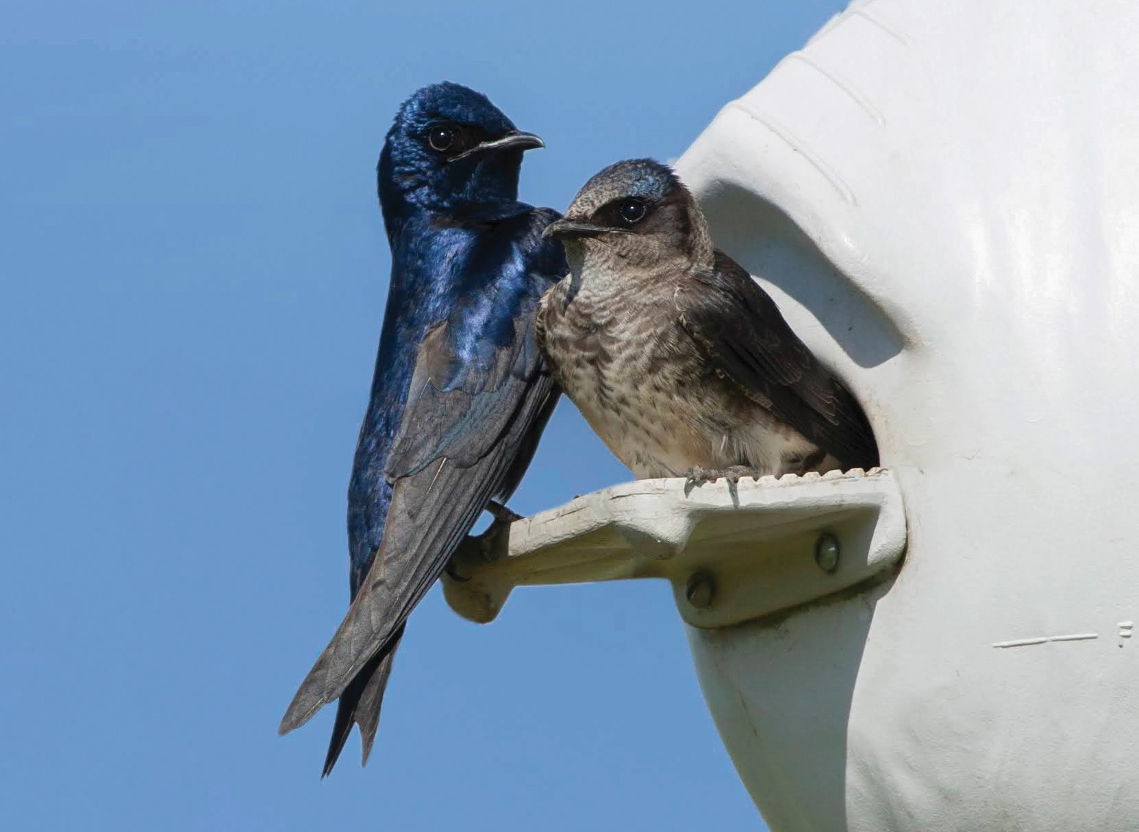
{"type": "Polygon", "coordinates": [[[675,173],[618,162],[546,229],[571,275],[542,299],[555,378],[638,478],[870,467],[854,397],[712,244],[675,173]]]}

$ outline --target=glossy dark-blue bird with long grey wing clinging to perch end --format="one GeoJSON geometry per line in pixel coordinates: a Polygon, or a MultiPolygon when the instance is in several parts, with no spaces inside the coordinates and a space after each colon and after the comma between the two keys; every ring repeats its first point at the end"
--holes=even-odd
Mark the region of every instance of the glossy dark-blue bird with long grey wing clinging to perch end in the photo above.
{"type": "Polygon", "coordinates": [[[481,512],[522,479],[559,391],[538,350],[542,293],[566,274],[558,214],[517,201],[517,130],[454,83],[395,116],[377,180],[392,277],[349,486],[352,604],[280,733],[339,699],[327,775],[353,723],[367,762],[409,613],[481,512]]]}

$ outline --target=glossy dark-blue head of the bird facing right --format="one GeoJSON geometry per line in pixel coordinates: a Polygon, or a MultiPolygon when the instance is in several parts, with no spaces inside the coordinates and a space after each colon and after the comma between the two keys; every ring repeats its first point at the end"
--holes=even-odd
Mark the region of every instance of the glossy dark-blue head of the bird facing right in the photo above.
{"type": "Polygon", "coordinates": [[[446,213],[462,204],[513,202],[522,153],[542,147],[481,92],[444,81],[403,103],[379,156],[385,214],[399,204],[446,213]]]}

